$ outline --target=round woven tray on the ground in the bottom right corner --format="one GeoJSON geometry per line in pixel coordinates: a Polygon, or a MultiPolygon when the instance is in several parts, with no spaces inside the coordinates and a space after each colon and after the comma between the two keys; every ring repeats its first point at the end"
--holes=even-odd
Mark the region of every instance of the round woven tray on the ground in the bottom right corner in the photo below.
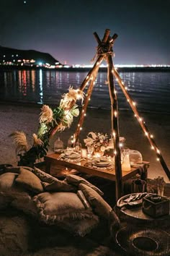
{"type": "Polygon", "coordinates": [[[128,255],[162,256],[170,254],[170,235],[160,229],[127,229],[117,231],[116,242],[128,255]]]}

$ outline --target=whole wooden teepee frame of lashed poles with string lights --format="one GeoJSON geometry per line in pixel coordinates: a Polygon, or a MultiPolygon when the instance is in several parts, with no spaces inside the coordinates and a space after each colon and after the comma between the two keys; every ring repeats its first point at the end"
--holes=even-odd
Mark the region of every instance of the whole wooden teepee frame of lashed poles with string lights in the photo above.
{"type": "Polygon", "coordinates": [[[118,106],[117,106],[117,95],[115,91],[114,76],[118,84],[120,85],[122,92],[127,98],[127,101],[130,104],[130,107],[132,108],[135,114],[135,117],[138,119],[140,127],[143,129],[144,134],[148,138],[148,141],[151,144],[151,148],[156,151],[156,155],[158,157],[157,160],[160,161],[161,166],[164,168],[164,171],[166,172],[166,175],[168,176],[169,179],[170,179],[170,171],[169,171],[169,168],[166,166],[166,163],[164,161],[164,158],[161,155],[160,150],[158,150],[158,147],[153,140],[153,135],[151,135],[151,133],[148,131],[145,121],[143,121],[143,119],[138,114],[138,110],[135,106],[135,102],[130,97],[127,91],[127,88],[125,87],[124,83],[120,78],[120,75],[118,74],[117,70],[114,67],[114,64],[112,62],[112,54],[113,54],[112,46],[115,43],[117,34],[114,34],[112,37],[110,37],[109,33],[110,33],[110,30],[106,29],[102,40],[100,40],[96,32],[94,33],[94,37],[96,38],[98,43],[97,54],[96,54],[97,61],[95,61],[94,66],[86,75],[84,81],[82,82],[79,88],[79,90],[83,91],[84,88],[86,88],[86,85],[88,85],[88,83],[90,82],[89,88],[86,92],[86,98],[84,99],[84,104],[82,106],[81,114],[79,116],[79,123],[76,127],[76,132],[73,135],[73,144],[76,145],[76,140],[79,137],[79,134],[81,132],[81,127],[84,123],[84,116],[86,116],[86,109],[89,103],[89,99],[91,97],[92,90],[94,88],[94,83],[97,77],[97,73],[99,71],[99,65],[103,60],[105,60],[107,61],[107,79],[108,79],[108,86],[109,86],[109,97],[111,101],[111,127],[112,127],[112,140],[114,145],[113,156],[115,156],[116,199],[118,199],[122,196],[122,168],[121,168],[121,157],[120,157],[118,106]]]}

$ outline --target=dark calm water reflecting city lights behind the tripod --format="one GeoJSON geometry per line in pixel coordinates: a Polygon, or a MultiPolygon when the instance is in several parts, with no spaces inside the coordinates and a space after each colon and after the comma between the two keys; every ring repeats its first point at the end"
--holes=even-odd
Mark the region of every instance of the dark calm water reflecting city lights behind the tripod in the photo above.
{"type": "MultiPolygon", "coordinates": [[[[79,88],[87,72],[12,70],[0,73],[0,101],[58,105],[69,86],[79,88]]],[[[170,114],[170,72],[120,72],[138,111],[170,114]]],[[[107,72],[99,72],[89,106],[110,108],[107,72]]],[[[116,83],[119,108],[129,108],[116,83]]]]}

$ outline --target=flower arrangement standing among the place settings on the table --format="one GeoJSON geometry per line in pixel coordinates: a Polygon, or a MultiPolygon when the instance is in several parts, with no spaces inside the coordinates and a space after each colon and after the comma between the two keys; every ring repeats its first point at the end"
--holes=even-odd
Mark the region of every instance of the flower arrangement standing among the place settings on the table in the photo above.
{"type": "Polygon", "coordinates": [[[109,138],[107,134],[104,135],[101,132],[89,132],[84,143],[86,147],[93,146],[94,150],[99,149],[104,152],[109,145],[109,138]]]}

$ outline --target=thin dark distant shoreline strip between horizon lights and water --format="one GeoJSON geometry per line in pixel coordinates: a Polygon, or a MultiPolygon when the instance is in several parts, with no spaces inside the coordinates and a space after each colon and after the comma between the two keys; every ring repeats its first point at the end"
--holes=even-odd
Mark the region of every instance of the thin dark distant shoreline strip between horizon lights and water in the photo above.
{"type": "MultiPolygon", "coordinates": [[[[10,71],[10,70],[51,70],[51,71],[61,71],[61,72],[89,72],[91,68],[84,68],[84,67],[61,67],[55,69],[48,69],[45,67],[17,67],[17,66],[1,66],[1,71],[10,71]]],[[[170,67],[118,67],[117,70],[119,72],[170,72],[170,67]]],[[[106,67],[100,67],[99,72],[107,72],[106,67]]]]}

